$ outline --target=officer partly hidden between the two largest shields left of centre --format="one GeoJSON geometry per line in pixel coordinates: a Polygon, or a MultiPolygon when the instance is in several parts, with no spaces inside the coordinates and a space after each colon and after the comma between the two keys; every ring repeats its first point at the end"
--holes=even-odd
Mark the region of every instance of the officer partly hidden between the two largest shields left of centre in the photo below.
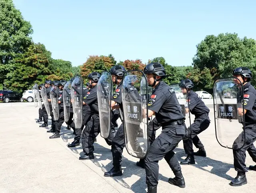
{"type": "MultiPolygon", "coordinates": [[[[123,117],[123,105],[122,105],[122,77],[126,72],[124,66],[118,65],[113,66],[110,69],[110,74],[112,75],[112,82],[116,85],[116,90],[112,97],[111,107],[112,109],[120,109],[120,116],[123,117]]],[[[123,120],[122,120],[123,121],[123,120]]],[[[118,128],[116,135],[112,141],[111,151],[113,156],[113,167],[110,171],[105,172],[105,177],[114,177],[114,176],[121,176],[122,169],[121,169],[121,162],[122,162],[122,153],[125,147],[124,143],[124,124],[122,123],[118,128]]]]}

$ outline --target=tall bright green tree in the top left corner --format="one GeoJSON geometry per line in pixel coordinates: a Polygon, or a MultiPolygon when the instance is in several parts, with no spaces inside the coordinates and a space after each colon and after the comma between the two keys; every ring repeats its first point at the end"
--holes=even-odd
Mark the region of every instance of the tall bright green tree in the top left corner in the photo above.
{"type": "Polygon", "coordinates": [[[25,53],[32,44],[30,22],[23,19],[12,0],[0,0],[0,82],[14,68],[12,60],[25,53]]]}

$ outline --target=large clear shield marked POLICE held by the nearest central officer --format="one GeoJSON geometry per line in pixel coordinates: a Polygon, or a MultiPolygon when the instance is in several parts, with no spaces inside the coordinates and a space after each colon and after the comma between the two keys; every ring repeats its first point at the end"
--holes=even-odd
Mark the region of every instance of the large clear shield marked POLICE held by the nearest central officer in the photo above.
{"type": "Polygon", "coordinates": [[[144,158],[148,152],[148,82],[140,70],[124,73],[122,80],[124,141],[130,155],[144,158]]]}

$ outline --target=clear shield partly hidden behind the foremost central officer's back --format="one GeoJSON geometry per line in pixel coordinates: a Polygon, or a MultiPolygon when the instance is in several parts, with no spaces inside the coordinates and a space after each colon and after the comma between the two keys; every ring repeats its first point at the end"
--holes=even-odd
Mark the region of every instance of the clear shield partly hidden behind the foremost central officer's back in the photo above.
{"type": "Polygon", "coordinates": [[[188,98],[188,88],[184,84],[171,84],[170,87],[173,89],[173,91],[176,94],[176,97],[178,99],[178,102],[180,104],[180,110],[182,114],[184,115],[185,124],[186,124],[186,130],[185,135],[183,139],[188,139],[191,137],[191,119],[190,119],[190,99],[188,98]]]}

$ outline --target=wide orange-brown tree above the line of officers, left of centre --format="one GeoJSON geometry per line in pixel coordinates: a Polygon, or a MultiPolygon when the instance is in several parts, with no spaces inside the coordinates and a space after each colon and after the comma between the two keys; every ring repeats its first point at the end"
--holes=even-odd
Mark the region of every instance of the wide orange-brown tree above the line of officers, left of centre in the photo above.
{"type": "Polygon", "coordinates": [[[110,70],[114,66],[113,58],[109,56],[89,56],[86,62],[81,67],[81,76],[84,80],[92,72],[98,72],[101,74],[102,71],[110,70]]]}

